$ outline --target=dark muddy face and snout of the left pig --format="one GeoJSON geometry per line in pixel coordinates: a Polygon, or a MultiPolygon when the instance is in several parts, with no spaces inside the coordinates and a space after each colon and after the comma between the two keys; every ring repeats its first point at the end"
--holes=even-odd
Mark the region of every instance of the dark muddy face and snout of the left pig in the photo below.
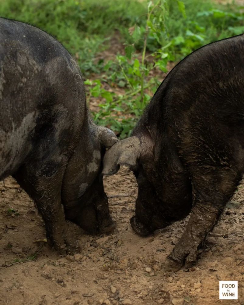
{"type": "Polygon", "coordinates": [[[96,177],[77,204],[65,205],[65,217],[89,234],[113,231],[116,222],[110,217],[108,197],[103,189],[102,177],[99,178],[99,175],[96,177]]]}

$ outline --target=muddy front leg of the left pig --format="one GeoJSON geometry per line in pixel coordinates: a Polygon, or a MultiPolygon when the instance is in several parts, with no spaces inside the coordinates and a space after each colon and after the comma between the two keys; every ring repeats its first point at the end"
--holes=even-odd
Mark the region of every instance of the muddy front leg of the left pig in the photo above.
{"type": "Polygon", "coordinates": [[[66,252],[73,253],[76,249],[76,242],[68,230],[61,204],[64,169],[64,164],[45,162],[38,168],[35,168],[34,164],[23,166],[14,175],[16,181],[30,194],[37,206],[45,223],[48,242],[63,255],[66,252]]]}

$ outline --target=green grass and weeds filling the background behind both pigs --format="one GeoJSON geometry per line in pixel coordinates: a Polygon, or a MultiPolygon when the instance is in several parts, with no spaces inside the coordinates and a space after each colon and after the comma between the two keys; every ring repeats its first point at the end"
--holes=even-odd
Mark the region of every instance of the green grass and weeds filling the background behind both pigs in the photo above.
{"type": "Polygon", "coordinates": [[[167,63],[244,32],[244,7],[208,0],[0,0],[0,16],[40,27],[75,56],[88,102],[99,104],[94,119],[121,138],[130,134],[167,63]],[[111,38],[121,48],[104,60],[111,38]]]}

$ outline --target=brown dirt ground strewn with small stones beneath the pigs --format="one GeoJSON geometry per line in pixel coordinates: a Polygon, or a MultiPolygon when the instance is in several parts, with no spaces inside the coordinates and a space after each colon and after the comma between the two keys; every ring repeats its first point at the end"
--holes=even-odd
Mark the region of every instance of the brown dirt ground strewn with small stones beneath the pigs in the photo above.
{"type": "MultiPolygon", "coordinates": [[[[193,267],[167,272],[165,258],[187,220],[142,238],[129,224],[137,196],[133,174],[122,168],[104,184],[108,196],[129,195],[109,199],[117,228],[89,236],[70,224],[83,250],[61,257],[35,243],[45,230],[29,196],[12,178],[0,182],[0,304],[244,304],[244,204],[225,210],[193,267]],[[218,300],[219,280],[239,281],[239,300],[218,300]]],[[[243,187],[236,201],[244,199],[243,187]]]]}

